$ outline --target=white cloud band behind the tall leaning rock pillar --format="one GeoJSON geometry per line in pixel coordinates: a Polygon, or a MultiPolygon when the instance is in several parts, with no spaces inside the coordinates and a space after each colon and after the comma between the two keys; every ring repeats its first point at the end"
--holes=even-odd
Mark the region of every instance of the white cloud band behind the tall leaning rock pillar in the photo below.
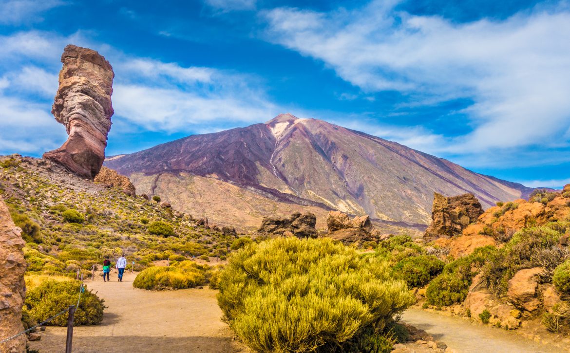
{"type": "MultiPolygon", "coordinates": [[[[254,76],[137,58],[86,38],[19,32],[0,36],[0,154],[41,154],[65,141],[50,114],[59,62],[69,43],[105,55],[115,71],[115,127],[129,132],[195,133],[265,121],[279,112],[254,76]],[[20,45],[18,45],[18,43],[20,45]],[[28,50],[29,49],[29,50],[28,50]]],[[[112,143],[112,141],[109,141],[112,143]]]]}

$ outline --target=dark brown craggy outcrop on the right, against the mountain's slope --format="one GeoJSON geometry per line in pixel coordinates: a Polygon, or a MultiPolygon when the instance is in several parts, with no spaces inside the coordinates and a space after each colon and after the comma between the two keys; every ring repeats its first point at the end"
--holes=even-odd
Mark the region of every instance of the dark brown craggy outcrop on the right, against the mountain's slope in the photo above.
{"type": "Polygon", "coordinates": [[[482,214],[481,203],[473,194],[448,198],[434,192],[431,224],[427,227],[424,237],[434,239],[459,235],[482,214]]]}

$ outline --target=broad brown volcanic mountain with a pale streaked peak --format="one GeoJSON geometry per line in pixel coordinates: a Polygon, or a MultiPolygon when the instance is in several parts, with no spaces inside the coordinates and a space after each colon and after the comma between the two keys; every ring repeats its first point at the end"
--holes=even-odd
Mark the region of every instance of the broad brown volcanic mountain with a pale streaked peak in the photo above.
{"type": "Polygon", "coordinates": [[[257,227],[263,216],[329,210],[384,225],[425,228],[433,192],[471,192],[484,208],[533,189],[474,173],[399,143],[280,114],[264,124],[194,135],[108,158],[137,191],[218,224],[257,227]]]}

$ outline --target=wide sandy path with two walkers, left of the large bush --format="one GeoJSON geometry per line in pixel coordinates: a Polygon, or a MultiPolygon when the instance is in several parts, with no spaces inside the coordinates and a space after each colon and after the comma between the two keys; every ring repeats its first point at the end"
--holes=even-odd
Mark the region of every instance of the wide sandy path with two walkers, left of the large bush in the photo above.
{"type": "MultiPolygon", "coordinates": [[[[204,289],[152,292],[133,288],[135,274],[117,282],[101,277],[86,281],[88,289],[105,299],[100,325],[74,328],[74,353],[94,352],[241,352],[229,327],[220,318],[216,291],[204,289]]],[[[30,342],[41,353],[63,352],[66,328],[48,326],[42,339],[30,342]]]]}

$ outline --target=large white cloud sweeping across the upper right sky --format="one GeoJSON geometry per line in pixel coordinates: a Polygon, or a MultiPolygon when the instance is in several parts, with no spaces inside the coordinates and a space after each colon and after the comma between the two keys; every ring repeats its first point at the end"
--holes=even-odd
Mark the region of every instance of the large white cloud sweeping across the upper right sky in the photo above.
{"type": "Polygon", "coordinates": [[[263,15],[268,39],[324,61],[365,92],[396,90],[426,105],[472,99],[465,113],[473,131],[441,139],[447,151],[568,145],[570,12],[457,24],[389,5],[263,15]]]}

